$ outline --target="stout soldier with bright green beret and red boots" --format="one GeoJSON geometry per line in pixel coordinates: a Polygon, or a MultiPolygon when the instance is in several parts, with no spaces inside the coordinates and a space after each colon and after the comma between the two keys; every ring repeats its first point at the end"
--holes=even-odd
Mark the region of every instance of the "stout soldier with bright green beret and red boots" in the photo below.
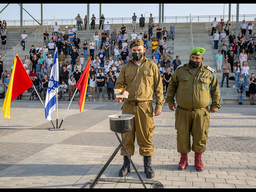
{"type": "Polygon", "coordinates": [[[195,48],[190,52],[190,61],[177,67],[168,86],[168,102],[174,111],[174,97],[178,104],[175,112],[175,129],[177,130],[177,148],[181,153],[179,170],[188,166],[187,153],[195,152],[196,170],[203,171],[202,153],[206,150],[210,117],[208,105],[212,98],[210,112],[220,108],[220,90],[215,71],[202,64],[204,48],[195,48]],[[193,137],[190,146],[190,134],[193,137]]]}

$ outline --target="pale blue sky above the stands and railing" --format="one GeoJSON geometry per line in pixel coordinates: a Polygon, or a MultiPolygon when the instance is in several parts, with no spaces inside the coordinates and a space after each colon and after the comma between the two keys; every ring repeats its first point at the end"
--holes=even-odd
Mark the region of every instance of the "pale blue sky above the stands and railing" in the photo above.
{"type": "MultiPolygon", "coordinates": [[[[2,10],[7,4],[0,4],[2,10]]],[[[40,4],[23,4],[34,18],[40,21],[40,4]]],[[[209,16],[209,15],[228,15],[228,4],[164,4],[164,16],[209,16]]],[[[256,4],[239,4],[239,14],[256,14],[256,4]]],[[[102,4],[102,14],[105,18],[129,18],[133,13],[137,17],[145,14],[149,17],[149,12],[153,17],[159,16],[159,4],[102,4]]],[[[87,14],[87,4],[44,4],[43,18],[51,19],[72,19],[80,14],[82,18],[87,14]],[[57,9],[56,9],[57,8],[57,9]]],[[[90,17],[94,14],[99,18],[99,4],[90,4],[90,17]]],[[[231,5],[231,14],[236,14],[236,4],[231,5]]],[[[1,20],[20,20],[20,6],[10,4],[1,14],[1,20]]],[[[32,18],[23,11],[23,20],[32,18]]]]}

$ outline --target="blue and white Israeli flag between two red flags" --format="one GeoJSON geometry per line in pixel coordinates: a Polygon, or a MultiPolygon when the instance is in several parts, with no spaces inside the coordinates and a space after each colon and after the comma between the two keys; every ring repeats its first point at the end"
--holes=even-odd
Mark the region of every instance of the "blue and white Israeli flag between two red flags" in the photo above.
{"type": "Polygon", "coordinates": [[[58,84],[59,84],[59,65],[58,65],[58,51],[55,49],[52,71],[50,73],[50,79],[48,83],[48,89],[46,92],[45,99],[45,118],[49,121],[52,120],[51,114],[56,107],[56,94],[58,94],[58,84]]]}

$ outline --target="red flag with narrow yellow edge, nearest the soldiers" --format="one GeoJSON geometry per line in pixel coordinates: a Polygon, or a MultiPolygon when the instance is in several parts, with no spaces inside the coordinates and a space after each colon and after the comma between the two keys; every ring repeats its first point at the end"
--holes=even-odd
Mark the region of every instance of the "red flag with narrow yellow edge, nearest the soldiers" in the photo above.
{"type": "Polygon", "coordinates": [[[76,88],[81,92],[79,100],[78,100],[80,112],[82,112],[84,110],[84,100],[86,97],[86,90],[87,90],[87,84],[88,84],[88,78],[89,78],[91,59],[92,59],[92,56],[90,56],[90,59],[88,60],[86,68],[84,69],[82,76],[80,77],[80,79],[78,80],[78,82],[76,84],[76,88]]]}

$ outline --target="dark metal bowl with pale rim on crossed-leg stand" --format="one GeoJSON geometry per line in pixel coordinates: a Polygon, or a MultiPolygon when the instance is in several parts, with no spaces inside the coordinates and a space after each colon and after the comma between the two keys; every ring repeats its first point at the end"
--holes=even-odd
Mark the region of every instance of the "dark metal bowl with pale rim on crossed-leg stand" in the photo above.
{"type": "Polygon", "coordinates": [[[110,123],[110,130],[115,133],[126,133],[132,130],[132,118],[131,114],[115,114],[108,116],[110,123]]]}

